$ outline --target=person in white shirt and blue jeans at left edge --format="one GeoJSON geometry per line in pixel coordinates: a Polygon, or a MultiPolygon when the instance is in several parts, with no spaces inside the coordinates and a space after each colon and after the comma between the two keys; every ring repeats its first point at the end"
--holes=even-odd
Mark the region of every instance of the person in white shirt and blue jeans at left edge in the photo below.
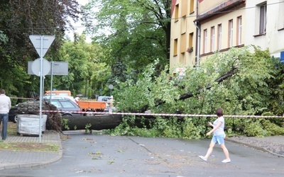
{"type": "Polygon", "coordinates": [[[11,99],[9,96],[6,96],[6,91],[4,89],[0,90],[0,123],[3,120],[2,125],[2,139],[6,140],[7,137],[7,128],[8,128],[8,119],[9,111],[11,109],[11,99]]]}

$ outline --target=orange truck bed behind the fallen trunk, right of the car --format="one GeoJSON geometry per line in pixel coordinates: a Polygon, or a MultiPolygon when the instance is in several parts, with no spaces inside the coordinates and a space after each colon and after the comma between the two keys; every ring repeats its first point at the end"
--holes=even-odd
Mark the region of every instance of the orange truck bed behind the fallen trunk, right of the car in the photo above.
{"type": "Polygon", "coordinates": [[[85,116],[93,116],[94,112],[104,112],[106,101],[77,101],[85,116]]]}

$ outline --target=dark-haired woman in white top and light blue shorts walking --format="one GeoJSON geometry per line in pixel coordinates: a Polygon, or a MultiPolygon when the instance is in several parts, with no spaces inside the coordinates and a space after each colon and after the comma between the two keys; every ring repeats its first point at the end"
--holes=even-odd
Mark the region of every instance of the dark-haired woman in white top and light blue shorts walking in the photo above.
{"type": "Polygon", "coordinates": [[[211,122],[208,122],[208,124],[210,126],[213,127],[213,129],[209,132],[207,132],[207,136],[211,135],[212,132],[214,132],[214,135],[212,137],[212,140],[209,144],[209,149],[207,150],[207,154],[205,156],[199,156],[200,159],[204,160],[204,161],[207,161],[208,157],[210,156],[210,154],[212,153],[213,151],[213,148],[214,148],[214,145],[215,144],[219,144],[220,147],[223,149],[223,152],[226,156],[226,159],[224,159],[222,162],[223,163],[229,163],[231,161],[230,157],[229,157],[229,151],[228,149],[226,149],[226,146],[225,146],[225,141],[224,141],[224,138],[225,138],[225,132],[224,132],[224,125],[225,125],[225,120],[224,120],[224,117],[223,117],[223,110],[221,108],[218,108],[216,110],[216,114],[217,114],[217,120],[215,120],[213,122],[213,124],[211,122]]]}

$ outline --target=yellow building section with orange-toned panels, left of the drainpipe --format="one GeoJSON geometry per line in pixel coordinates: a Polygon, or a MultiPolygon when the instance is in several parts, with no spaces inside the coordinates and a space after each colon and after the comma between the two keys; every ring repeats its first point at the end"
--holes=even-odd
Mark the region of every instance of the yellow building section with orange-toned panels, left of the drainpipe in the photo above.
{"type": "Polygon", "coordinates": [[[196,0],[173,0],[171,18],[170,68],[196,64],[196,0]]]}

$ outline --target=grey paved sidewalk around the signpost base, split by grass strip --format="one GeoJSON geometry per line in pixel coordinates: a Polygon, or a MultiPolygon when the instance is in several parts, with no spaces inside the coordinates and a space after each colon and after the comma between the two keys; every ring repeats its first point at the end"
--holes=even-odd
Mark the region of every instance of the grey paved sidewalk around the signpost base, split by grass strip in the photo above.
{"type": "Polygon", "coordinates": [[[59,145],[58,152],[30,152],[0,149],[0,170],[39,166],[58,161],[62,157],[62,144],[58,132],[45,131],[39,139],[35,136],[8,135],[5,142],[41,142],[59,145]]]}

